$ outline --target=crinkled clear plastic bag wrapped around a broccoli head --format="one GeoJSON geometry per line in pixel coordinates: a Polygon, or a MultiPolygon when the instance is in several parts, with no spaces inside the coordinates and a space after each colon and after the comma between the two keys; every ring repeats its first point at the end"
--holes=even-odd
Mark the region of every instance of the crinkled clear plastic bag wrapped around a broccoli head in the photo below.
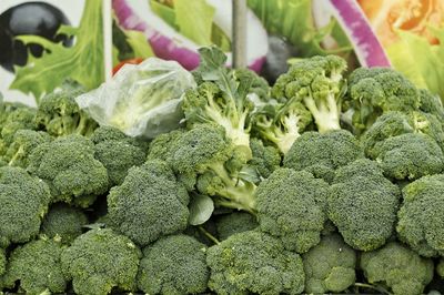
{"type": "Polygon", "coordinates": [[[195,85],[192,74],[178,62],[150,58],[125,64],[111,81],[75,101],[100,125],[152,139],[179,126],[182,95],[195,85]]]}

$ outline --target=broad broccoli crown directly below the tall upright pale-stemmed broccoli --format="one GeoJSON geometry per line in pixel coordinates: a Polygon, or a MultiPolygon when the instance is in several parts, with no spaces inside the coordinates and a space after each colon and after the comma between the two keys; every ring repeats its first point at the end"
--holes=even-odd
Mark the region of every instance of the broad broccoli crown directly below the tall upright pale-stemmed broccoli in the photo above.
{"type": "Polygon", "coordinates": [[[285,155],[284,167],[306,170],[330,183],[335,170],[362,157],[363,149],[349,131],[305,132],[285,155]]]}

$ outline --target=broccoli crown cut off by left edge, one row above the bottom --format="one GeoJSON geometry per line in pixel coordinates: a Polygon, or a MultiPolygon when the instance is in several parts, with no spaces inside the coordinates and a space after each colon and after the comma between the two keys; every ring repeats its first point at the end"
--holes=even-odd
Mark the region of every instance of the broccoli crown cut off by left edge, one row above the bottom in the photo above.
{"type": "Polygon", "coordinates": [[[23,169],[0,167],[0,247],[37,236],[51,200],[48,185],[23,169]]]}

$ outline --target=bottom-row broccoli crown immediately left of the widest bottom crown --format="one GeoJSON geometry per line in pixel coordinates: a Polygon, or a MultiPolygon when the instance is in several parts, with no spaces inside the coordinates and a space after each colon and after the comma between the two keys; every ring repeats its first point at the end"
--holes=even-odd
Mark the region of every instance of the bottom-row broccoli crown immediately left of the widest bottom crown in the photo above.
{"type": "Polygon", "coordinates": [[[201,294],[210,271],[206,246],[188,235],[162,237],[143,248],[138,286],[145,294],[201,294]]]}

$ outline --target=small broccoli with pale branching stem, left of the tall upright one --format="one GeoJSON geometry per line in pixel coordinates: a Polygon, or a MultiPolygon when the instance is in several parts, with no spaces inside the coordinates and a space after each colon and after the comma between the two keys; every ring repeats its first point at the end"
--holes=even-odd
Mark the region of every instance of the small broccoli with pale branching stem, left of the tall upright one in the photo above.
{"type": "Polygon", "coordinates": [[[284,103],[270,101],[260,106],[253,116],[253,130],[286,154],[311,122],[309,110],[296,98],[292,98],[284,103]]]}

